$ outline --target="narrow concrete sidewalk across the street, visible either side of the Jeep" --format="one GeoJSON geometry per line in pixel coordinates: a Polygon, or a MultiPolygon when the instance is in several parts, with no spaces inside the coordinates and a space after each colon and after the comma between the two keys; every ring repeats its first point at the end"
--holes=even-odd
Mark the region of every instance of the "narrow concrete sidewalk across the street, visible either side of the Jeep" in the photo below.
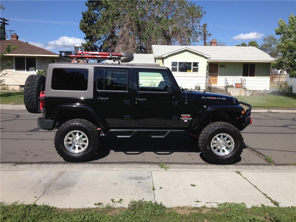
{"type": "MultiPolygon", "coordinates": [[[[26,110],[25,105],[0,104],[0,110],[26,110]]],[[[295,108],[252,108],[252,112],[289,112],[296,113],[295,108]]]]}

